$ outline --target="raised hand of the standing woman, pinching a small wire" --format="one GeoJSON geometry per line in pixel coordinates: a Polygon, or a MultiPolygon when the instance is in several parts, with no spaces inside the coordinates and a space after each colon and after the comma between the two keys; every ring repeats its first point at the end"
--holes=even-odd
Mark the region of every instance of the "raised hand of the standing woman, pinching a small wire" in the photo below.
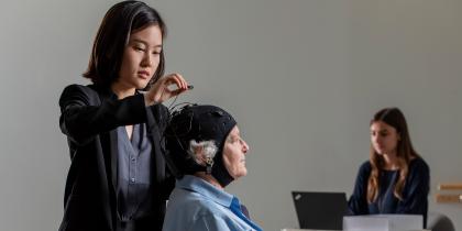
{"type": "Polygon", "coordinates": [[[146,106],[153,106],[164,102],[165,100],[176,97],[188,90],[188,82],[182,75],[174,73],[161,77],[151,89],[144,95],[144,102],[146,106]],[[176,85],[176,89],[172,90],[169,87],[176,85]]]}

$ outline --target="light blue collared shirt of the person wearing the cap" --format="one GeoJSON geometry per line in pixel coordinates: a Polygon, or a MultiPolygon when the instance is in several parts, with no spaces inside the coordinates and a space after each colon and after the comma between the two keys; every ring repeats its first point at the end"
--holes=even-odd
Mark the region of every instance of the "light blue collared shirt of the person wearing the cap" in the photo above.
{"type": "Polygon", "coordinates": [[[162,230],[262,231],[242,213],[237,197],[191,175],[176,182],[162,230]]]}

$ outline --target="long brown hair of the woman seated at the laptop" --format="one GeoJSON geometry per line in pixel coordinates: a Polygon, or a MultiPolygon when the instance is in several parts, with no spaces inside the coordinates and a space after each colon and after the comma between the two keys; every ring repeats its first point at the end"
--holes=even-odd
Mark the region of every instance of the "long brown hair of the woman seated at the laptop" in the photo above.
{"type": "MultiPolygon", "coordinates": [[[[398,108],[385,108],[374,114],[371,125],[374,122],[382,121],[394,129],[399,134],[399,141],[396,146],[396,157],[398,160],[399,178],[395,184],[394,195],[403,200],[403,189],[405,187],[406,177],[409,172],[409,163],[415,157],[419,157],[410,142],[409,131],[407,129],[406,119],[398,108]]],[[[371,144],[370,162],[372,166],[371,176],[367,182],[367,202],[373,202],[378,197],[381,188],[380,176],[385,165],[382,155],[378,155],[371,144]]]]}

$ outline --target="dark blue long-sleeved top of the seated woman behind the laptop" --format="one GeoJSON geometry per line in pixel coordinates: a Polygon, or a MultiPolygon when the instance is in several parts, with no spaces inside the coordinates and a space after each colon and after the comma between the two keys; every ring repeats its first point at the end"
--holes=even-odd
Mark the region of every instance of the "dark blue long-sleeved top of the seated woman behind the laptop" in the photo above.
{"type": "Polygon", "coordinates": [[[403,189],[403,200],[393,194],[399,170],[382,170],[380,193],[376,201],[367,202],[367,180],[371,175],[371,163],[363,163],[358,173],[353,195],[349,200],[352,215],[403,213],[424,216],[427,223],[428,193],[430,190],[430,169],[422,158],[409,163],[409,173],[403,189]]]}

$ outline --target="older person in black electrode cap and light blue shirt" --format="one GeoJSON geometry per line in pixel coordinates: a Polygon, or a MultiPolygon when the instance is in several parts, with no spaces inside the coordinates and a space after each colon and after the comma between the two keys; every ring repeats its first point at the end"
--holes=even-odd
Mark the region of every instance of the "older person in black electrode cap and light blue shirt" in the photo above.
{"type": "Polygon", "coordinates": [[[187,106],[173,114],[166,138],[177,182],[164,231],[262,230],[244,216],[239,199],[224,191],[248,173],[249,145],[231,114],[215,106],[187,106]]]}

